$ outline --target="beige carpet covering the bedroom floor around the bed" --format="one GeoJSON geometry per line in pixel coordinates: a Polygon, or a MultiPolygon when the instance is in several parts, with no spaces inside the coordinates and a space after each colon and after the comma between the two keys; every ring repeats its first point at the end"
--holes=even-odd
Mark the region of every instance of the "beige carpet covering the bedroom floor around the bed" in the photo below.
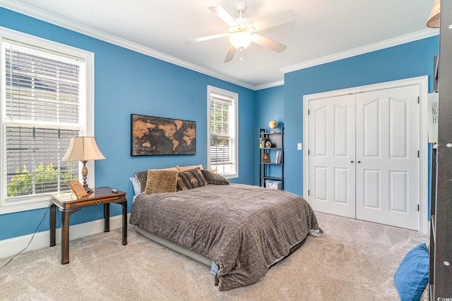
{"type": "MultiPolygon", "coordinates": [[[[225,292],[209,269],[129,226],[20,254],[0,270],[0,300],[398,300],[393,275],[427,235],[318,213],[323,231],[258,283],[225,292]]],[[[0,259],[3,266],[8,258],[0,259]]]]}

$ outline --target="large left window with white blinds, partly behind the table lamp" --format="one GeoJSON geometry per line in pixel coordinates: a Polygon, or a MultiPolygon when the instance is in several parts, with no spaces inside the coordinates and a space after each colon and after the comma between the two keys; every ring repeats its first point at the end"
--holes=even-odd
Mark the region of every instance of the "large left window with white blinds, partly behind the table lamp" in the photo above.
{"type": "MultiPolygon", "coordinates": [[[[92,54],[13,31],[0,31],[0,213],[48,205],[69,190],[79,162],[61,162],[71,137],[88,135],[92,54]]],[[[90,170],[91,171],[91,170],[90,170]]]]}

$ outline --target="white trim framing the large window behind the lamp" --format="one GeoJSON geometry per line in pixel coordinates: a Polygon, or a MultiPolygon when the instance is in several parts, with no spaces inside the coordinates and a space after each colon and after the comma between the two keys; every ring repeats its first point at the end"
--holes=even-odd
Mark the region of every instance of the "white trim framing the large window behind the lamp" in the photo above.
{"type": "MultiPolygon", "coordinates": [[[[78,49],[76,47],[71,47],[69,45],[61,44],[58,42],[50,41],[48,39],[42,39],[40,37],[35,37],[32,35],[25,34],[23,32],[18,32],[16,30],[11,30],[6,27],[0,27],[0,46],[3,43],[3,39],[12,39],[24,44],[30,44],[32,46],[42,47],[44,49],[52,49],[52,51],[61,52],[61,54],[71,54],[72,56],[78,56],[85,60],[86,63],[86,78],[85,78],[85,100],[84,106],[85,110],[85,131],[83,135],[94,136],[94,53],[90,51],[85,51],[83,49],[78,49]]],[[[1,47],[0,47],[1,49],[1,47]]],[[[4,54],[0,54],[0,59],[4,59],[4,54]]],[[[4,73],[0,72],[0,82],[4,80],[4,73]]],[[[3,98],[4,94],[0,94],[3,98]]],[[[6,102],[1,101],[0,113],[3,114],[6,106],[6,102]]],[[[0,121],[0,133],[4,133],[3,118],[0,121]]],[[[6,142],[4,135],[0,137],[0,160],[1,166],[6,164],[6,142]]],[[[94,161],[88,161],[88,170],[90,171],[90,177],[88,178],[88,185],[90,187],[95,187],[95,168],[94,161]]],[[[0,185],[1,185],[1,195],[0,195],[0,214],[8,214],[19,211],[27,211],[33,209],[40,209],[49,206],[50,195],[37,195],[32,197],[23,197],[23,199],[18,200],[13,203],[4,202],[3,193],[6,192],[6,178],[4,174],[3,167],[0,171],[0,185]]]]}

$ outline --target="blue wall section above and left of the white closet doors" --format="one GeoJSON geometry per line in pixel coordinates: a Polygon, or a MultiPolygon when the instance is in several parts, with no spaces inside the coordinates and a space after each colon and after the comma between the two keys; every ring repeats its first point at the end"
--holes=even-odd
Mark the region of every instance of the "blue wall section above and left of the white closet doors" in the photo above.
{"type": "Polygon", "coordinates": [[[285,74],[285,190],[303,195],[303,95],[429,75],[439,36],[285,74]]]}

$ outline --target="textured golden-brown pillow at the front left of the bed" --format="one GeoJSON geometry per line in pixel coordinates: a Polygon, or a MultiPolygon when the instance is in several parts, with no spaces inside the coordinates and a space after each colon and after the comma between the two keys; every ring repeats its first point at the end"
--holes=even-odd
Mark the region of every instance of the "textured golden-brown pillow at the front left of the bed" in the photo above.
{"type": "Polygon", "coordinates": [[[178,171],[164,171],[161,169],[148,170],[148,180],[144,190],[145,195],[161,192],[176,192],[178,171]]]}

